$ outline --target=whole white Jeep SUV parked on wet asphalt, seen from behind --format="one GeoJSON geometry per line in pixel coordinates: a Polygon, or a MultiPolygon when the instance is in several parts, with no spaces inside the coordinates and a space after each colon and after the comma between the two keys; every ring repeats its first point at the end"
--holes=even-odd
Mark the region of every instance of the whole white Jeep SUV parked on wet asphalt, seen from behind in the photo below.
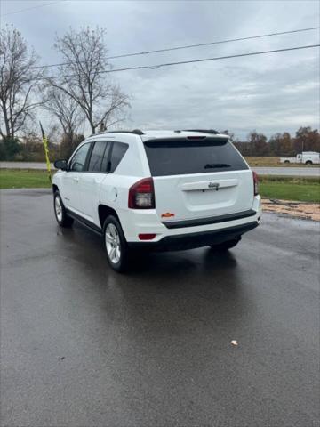
{"type": "Polygon", "coordinates": [[[132,249],[227,250],[260,222],[257,176],[215,131],[99,133],[54,165],[58,223],[100,233],[116,271],[132,249]]]}

